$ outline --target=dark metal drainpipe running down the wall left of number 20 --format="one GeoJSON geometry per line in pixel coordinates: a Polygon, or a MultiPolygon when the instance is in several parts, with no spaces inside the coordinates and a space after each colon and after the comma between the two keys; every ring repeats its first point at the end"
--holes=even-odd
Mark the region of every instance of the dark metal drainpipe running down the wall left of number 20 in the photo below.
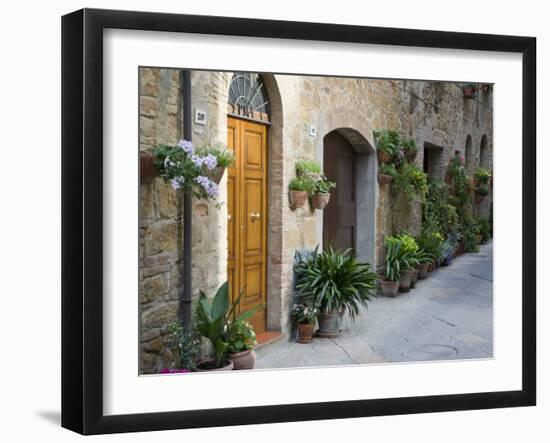
{"type": "MultiPolygon", "coordinates": [[[[183,138],[192,141],[192,104],[191,104],[191,71],[181,71],[181,90],[183,99],[183,138]]],[[[192,298],[192,196],[183,194],[183,286],[180,304],[181,323],[184,328],[191,327],[192,298]]]]}

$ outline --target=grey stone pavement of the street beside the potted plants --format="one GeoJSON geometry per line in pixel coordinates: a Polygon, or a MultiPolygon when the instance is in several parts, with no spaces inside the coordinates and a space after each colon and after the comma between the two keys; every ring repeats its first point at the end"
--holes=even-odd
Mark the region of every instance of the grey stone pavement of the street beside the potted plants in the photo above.
{"type": "Polygon", "coordinates": [[[376,297],[338,338],[281,340],[256,351],[256,367],[491,358],[493,245],[463,254],[395,298],[376,297]]]}

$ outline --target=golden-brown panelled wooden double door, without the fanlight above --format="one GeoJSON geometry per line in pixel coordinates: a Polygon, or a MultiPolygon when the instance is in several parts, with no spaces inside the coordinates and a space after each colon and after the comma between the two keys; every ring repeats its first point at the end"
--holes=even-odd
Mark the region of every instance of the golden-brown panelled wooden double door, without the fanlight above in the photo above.
{"type": "Polygon", "coordinates": [[[266,330],[267,127],[227,118],[227,144],[235,153],[228,170],[227,278],[232,300],[242,293],[241,312],[262,306],[251,318],[266,330]]]}

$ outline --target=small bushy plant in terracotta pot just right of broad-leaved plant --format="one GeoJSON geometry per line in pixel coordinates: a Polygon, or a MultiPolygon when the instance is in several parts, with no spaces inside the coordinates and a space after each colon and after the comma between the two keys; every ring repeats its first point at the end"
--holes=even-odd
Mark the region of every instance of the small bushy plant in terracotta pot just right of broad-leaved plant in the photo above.
{"type": "Polygon", "coordinates": [[[228,358],[234,370],[254,369],[256,365],[256,332],[245,320],[234,320],[227,328],[228,358]]]}

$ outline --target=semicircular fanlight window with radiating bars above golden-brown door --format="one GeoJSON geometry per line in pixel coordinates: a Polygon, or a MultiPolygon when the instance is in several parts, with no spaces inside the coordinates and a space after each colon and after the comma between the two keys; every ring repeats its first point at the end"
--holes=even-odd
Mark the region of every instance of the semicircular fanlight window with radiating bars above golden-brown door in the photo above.
{"type": "Polygon", "coordinates": [[[269,100],[259,74],[235,72],[229,86],[228,102],[231,115],[270,121],[269,100]]]}

